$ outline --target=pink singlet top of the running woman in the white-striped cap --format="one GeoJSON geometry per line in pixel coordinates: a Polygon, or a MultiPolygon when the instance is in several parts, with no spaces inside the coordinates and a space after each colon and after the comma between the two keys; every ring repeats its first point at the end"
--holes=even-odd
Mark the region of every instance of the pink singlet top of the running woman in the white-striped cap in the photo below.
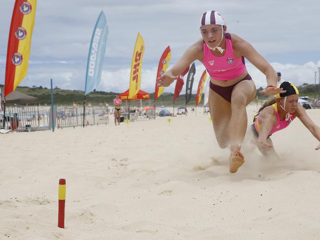
{"type": "Polygon", "coordinates": [[[230,33],[225,33],[226,49],[224,56],[217,57],[203,42],[203,65],[210,76],[218,81],[228,81],[241,76],[245,70],[244,57],[236,58],[233,53],[230,33]]]}

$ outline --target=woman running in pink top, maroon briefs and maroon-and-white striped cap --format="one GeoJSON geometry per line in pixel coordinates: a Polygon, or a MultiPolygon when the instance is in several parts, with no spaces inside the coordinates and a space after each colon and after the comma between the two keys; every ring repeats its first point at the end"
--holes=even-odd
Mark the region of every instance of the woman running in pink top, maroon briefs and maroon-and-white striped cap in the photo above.
{"type": "Polygon", "coordinates": [[[256,96],[244,58],[266,76],[267,87],[261,93],[276,95],[277,72],[255,48],[235,34],[226,32],[222,15],[207,11],[200,18],[202,38],[190,46],[180,60],[157,79],[168,87],[194,60],[199,60],[210,75],[209,109],[220,148],[230,146],[229,171],[235,173],[244,163],[240,152],[247,129],[246,106],[256,96]]]}

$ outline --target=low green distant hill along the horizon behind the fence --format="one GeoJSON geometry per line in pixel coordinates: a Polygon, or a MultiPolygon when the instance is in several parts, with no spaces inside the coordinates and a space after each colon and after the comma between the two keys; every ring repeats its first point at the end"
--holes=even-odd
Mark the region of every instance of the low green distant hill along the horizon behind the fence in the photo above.
{"type": "MultiPolygon", "coordinates": [[[[303,84],[301,86],[297,86],[300,96],[309,96],[310,99],[319,97],[320,95],[320,88],[319,85],[315,87],[314,84],[303,84]]],[[[43,87],[36,87],[32,86],[30,87],[18,87],[18,91],[37,97],[39,99],[39,102],[41,105],[43,104],[50,104],[51,103],[51,95],[50,95],[50,89],[43,88],[43,87]]],[[[262,88],[259,88],[256,90],[257,96],[259,100],[265,100],[268,98],[268,96],[261,94],[259,91],[262,90],[262,88]]],[[[90,92],[86,96],[86,102],[91,102],[94,105],[97,104],[104,104],[107,103],[109,105],[113,104],[113,98],[115,98],[117,92],[105,92],[105,91],[96,91],[90,92]]],[[[192,98],[190,102],[188,103],[188,106],[194,106],[195,104],[195,95],[192,94],[192,98]]],[[[84,98],[84,91],[80,90],[62,90],[59,88],[54,89],[54,102],[55,104],[62,104],[62,105],[72,105],[73,102],[77,102],[78,104],[83,104],[83,98],[84,98]]],[[[175,106],[184,106],[186,95],[180,94],[180,96],[175,101],[175,106]]],[[[150,102],[153,105],[154,102],[154,93],[150,94],[150,102]]],[[[203,95],[202,100],[200,102],[200,106],[203,104],[203,95]]],[[[132,106],[140,106],[140,101],[131,101],[130,105],[132,106]]],[[[142,105],[146,106],[149,105],[149,100],[142,100],[142,105]]],[[[162,93],[162,95],[157,99],[156,101],[157,106],[172,106],[173,105],[173,93],[162,93]]]]}

